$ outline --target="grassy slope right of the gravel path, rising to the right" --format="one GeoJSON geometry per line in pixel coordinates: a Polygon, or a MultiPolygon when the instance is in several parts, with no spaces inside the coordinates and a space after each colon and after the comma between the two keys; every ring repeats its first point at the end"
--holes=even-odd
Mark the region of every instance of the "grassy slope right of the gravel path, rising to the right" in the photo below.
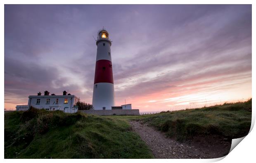
{"type": "Polygon", "coordinates": [[[200,109],[161,112],[142,120],[180,141],[198,135],[235,139],[246,136],[250,130],[251,99],[200,109]]]}

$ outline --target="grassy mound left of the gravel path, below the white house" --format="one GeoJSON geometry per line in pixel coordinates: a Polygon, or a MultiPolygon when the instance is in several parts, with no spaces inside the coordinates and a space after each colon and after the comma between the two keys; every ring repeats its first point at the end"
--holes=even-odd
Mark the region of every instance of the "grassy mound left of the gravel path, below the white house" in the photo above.
{"type": "Polygon", "coordinates": [[[30,109],[5,113],[5,158],[153,158],[126,120],[30,109]]]}

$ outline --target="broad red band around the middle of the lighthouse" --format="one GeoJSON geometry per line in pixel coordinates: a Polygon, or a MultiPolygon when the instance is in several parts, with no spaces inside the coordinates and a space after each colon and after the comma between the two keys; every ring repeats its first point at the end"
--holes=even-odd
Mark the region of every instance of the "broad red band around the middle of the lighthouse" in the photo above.
{"type": "Polygon", "coordinates": [[[94,84],[95,83],[114,84],[111,61],[104,59],[96,61],[94,84]]]}

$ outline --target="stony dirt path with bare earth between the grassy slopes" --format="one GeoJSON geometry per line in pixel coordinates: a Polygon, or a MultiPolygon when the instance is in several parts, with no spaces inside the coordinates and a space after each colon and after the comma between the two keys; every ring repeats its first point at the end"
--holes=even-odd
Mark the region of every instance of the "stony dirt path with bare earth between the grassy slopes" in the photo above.
{"type": "Polygon", "coordinates": [[[224,156],[223,152],[226,153],[230,149],[227,148],[227,143],[222,143],[221,147],[225,147],[225,149],[208,144],[206,148],[205,144],[180,143],[166,137],[164,133],[151,126],[142,124],[141,121],[130,121],[129,123],[133,131],[137,132],[149,146],[155,158],[218,158],[224,156]]]}

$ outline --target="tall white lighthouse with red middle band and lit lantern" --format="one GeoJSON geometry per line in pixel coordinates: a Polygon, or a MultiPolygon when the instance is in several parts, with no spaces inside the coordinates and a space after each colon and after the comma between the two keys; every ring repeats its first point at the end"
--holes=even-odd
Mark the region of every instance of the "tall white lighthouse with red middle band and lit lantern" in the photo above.
{"type": "Polygon", "coordinates": [[[95,110],[110,110],[115,106],[114,80],[111,61],[111,40],[103,28],[97,36],[97,57],[93,86],[92,105],[95,110]]]}

